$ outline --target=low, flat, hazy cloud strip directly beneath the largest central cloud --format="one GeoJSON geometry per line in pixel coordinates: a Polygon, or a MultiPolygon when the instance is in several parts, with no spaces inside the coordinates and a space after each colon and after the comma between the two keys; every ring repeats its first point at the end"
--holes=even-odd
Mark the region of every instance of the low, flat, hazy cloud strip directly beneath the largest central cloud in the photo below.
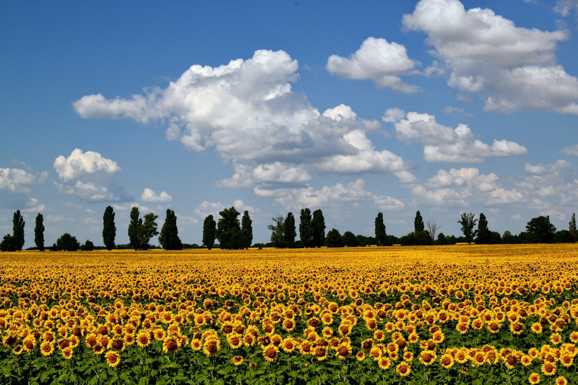
{"type": "Polygon", "coordinates": [[[348,185],[335,184],[323,186],[316,190],[313,186],[297,189],[254,189],[255,195],[274,198],[277,203],[287,208],[300,209],[303,207],[339,207],[347,204],[353,207],[360,205],[362,201],[369,201],[381,210],[401,210],[405,205],[399,199],[384,195],[374,195],[365,190],[365,181],[361,178],[348,185]]]}

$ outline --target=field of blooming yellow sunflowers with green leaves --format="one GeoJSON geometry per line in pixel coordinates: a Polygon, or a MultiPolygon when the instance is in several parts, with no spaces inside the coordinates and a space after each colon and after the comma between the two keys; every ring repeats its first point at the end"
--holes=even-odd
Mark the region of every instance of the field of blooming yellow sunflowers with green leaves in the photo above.
{"type": "Polygon", "coordinates": [[[576,384],[578,245],[2,253],[1,384],[576,384]]]}

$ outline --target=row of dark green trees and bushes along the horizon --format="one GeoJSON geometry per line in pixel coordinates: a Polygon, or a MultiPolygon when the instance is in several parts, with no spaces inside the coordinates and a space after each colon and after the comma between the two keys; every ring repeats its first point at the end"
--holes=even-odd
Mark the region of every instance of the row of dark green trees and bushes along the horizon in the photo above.
{"type": "MultiPolygon", "coordinates": [[[[520,234],[513,235],[506,230],[502,235],[497,231],[488,229],[488,220],[484,213],[476,218],[473,213],[462,213],[458,223],[461,225],[463,236],[446,236],[442,232],[438,234],[441,225],[435,220],[428,219],[424,223],[420,211],[416,212],[414,218],[414,231],[401,238],[388,235],[384,224],[383,213],[379,212],[375,218],[375,237],[355,235],[351,231],[340,234],[339,230],[331,229],[325,234],[325,218],[321,209],[313,211],[309,208],[302,208],[299,215],[299,225],[295,223],[295,216],[292,212],[287,215],[278,215],[271,218],[273,223],[268,225],[271,230],[271,241],[265,244],[252,244],[253,242],[253,220],[249,216],[249,211],[245,210],[241,220],[241,213],[235,207],[225,208],[219,212],[221,218],[216,221],[213,215],[206,216],[203,222],[202,246],[197,244],[183,244],[179,238],[177,229],[177,217],[175,212],[167,209],[165,223],[158,231],[156,220],[158,215],[153,212],[144,214],[140,218],[138,207],[133,207],[130,213],[130,223],[128,225],[129,243],[126,245],[116,245],[116,225],[114,223],[114,210],[108,206],[103,214],[102,240],[104,247],[94,246],[90,240],[84,244],[69,233],[60,236],[52,246],[51,251],[92,251],[94,249],[128,249],[147,250],[155,248],[150,244],[150,240],[158,236],[158,242],[162,249],[181,250],[183,248],[208,248],[219,247],[221,249],[247,249],[253,247],[275,247],[275,248],[319,248],[327,247],[356,247],[356,246],[391,246],[399,244],[402,246],[425,246],[425,245],[454,245],[460,242],[468,244],[528,244],[528,243],[567,243],[578,240],[576,229],[576,214],[570,218],[568,230],[557,231],[550,222],[550,216],[538,216],[532,218],[526,225],[526,230],[520,234]],[[477,224],[477,228],[476,227],[477,224]],[[299,239],[297,239],[299,230],[299,239]],[[436,237],[437,234],[437,237],[436,237]],[[218,244],[216,243],[218,241],[218,244]]],[[[45,251],[44,238],[44,218],[42,214],[36,216],[34,229],[35,248],[45,251]]],[[[21,251],[24,246],[24,218],[20,210],[13,215],[12,234],[6,234],[0,242],[0,251],[21,251]]]]}

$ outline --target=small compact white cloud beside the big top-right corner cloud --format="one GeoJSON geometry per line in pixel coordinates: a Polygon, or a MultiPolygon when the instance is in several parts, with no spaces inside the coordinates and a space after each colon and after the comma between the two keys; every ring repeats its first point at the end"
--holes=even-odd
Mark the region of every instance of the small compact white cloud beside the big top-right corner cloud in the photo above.
{"type": "Polygon", "coordinates": [[[386,39],[367,38],[360,49],[343,58],[331,55],[325,68],[329,73],[346,79],[371,79],[378,87],[402,92],[417,92],[416,85],[403,83],[400,75],[413,70],[419,62],[407,57],[403,44],[388,43],[386,39]]]}

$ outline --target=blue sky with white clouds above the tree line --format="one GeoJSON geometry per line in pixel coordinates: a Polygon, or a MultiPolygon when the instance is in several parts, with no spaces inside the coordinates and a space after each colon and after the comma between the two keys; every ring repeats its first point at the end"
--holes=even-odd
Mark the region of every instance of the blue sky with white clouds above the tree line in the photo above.
{"type": "MultiPolygon", "coordinates": [[[[321,208],[332,227],[518,233],[578,211],[578,3],[3,3],[0,230],[45,216],[102,244],[102,213],[321,208]]],[[[298,216],[296,214],[296,216],[298,216]]]]}

